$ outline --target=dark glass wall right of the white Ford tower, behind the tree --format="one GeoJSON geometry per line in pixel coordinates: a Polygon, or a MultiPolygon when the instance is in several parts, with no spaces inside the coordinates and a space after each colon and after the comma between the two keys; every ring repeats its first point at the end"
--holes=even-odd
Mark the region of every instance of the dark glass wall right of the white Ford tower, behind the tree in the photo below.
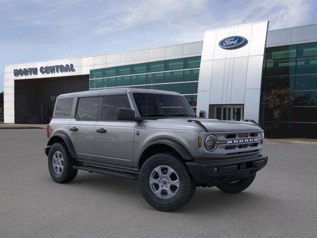
{"type": "Polygon", "coordinates": [[[314,137],[317,134],[317,42],[266,48],[260,122],[269,137],[314,137]],[[273,89],[287,89],[289,112],[277,121],[265,104],[273,89]]]}

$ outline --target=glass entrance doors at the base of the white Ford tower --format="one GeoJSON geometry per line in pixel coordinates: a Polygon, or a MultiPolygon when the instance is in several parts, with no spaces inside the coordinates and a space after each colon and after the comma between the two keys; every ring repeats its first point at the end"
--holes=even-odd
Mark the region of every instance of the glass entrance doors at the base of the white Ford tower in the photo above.
{"type": "Polygon", "coordinates": [[[243,105],[215,106],[214,118],[219,120],[243,120],[243,105]]]}

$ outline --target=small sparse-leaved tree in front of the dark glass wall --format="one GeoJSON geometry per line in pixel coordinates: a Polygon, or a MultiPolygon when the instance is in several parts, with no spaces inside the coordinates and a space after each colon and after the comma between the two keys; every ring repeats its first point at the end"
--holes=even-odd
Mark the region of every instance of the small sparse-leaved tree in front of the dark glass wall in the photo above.
{"type": "Polygon", "coordinates": [[[278,137],[280,137],[280,121],[291,110],[290,88],[272,89],[265,94],[264,105],[273,111],[273,117],[278,121],[278,137]]]}

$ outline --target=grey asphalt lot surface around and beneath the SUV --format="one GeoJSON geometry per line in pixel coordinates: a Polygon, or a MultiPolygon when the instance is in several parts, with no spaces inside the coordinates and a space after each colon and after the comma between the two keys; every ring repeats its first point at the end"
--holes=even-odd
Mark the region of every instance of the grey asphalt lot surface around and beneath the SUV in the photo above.
{"type": "Polygon", "coordinates": [[[198,188],[181,209],[159,212],[138,182],[80,171],[50,178],[45,129],[0,130],[2,238],[315,238],[317,144],[266,140],[268,165],[239,194],[198,188]]]}

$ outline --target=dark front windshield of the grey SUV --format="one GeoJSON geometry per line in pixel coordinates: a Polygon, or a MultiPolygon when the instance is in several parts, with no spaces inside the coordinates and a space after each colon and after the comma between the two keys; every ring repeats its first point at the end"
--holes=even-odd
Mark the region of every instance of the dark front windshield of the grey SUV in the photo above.
{"type": "Polygon", "coordinates": [[[134,93],[133,97],[141,117],[196,117],[183,96],[134,93]]]}

